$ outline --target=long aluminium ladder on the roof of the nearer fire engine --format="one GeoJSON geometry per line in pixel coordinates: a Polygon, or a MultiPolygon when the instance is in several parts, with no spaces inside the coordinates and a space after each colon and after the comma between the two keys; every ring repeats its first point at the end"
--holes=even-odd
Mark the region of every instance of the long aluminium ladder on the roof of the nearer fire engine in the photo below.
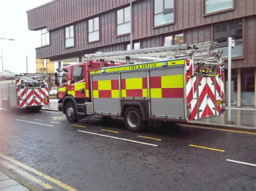
{"type": "Polygon", "coordinates": [[[132,49],[130,51],[85,54],[84,58],[85,61],[106,60],[126,63],[127,61],[143,63],[193,55],[195,60],[211,60],[212,63],[217,63],[217,58],[220,58],[222,52],[215,49],[216,46],[216,42],[208,41],[206,43],[198,44],[180,44],[166,47],[132,49]]]}

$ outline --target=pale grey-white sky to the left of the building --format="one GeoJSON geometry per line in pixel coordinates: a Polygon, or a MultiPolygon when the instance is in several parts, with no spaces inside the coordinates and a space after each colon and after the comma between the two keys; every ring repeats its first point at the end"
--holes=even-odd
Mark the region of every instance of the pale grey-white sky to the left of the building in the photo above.
{"type": "MultiPolygon", "coordinates": [[[[26,55],[28,55],[28,72],[36,72],[36,51],[41,37],[38,32],[28,30],[26,11],[51,0],[1,0],[0,1],[0,38],[11,38],[14,41],[0,40],[3,47],[4,69],[16,73],[26,72],[26,55]]],[[[0,70],[2,59],[0,58],[0,70]]]]}

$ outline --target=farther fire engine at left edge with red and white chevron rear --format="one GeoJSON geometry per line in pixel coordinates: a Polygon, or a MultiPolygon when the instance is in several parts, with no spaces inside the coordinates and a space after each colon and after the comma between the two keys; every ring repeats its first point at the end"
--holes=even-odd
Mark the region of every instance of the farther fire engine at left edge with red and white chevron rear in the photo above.
{"type": "Polygon", "coordinates": [[[49,105],[48,91],[48,84],[41,74],[0,72],[0,107],[4,111],[13,108],[40,110],[43,105],[49,105]]]}

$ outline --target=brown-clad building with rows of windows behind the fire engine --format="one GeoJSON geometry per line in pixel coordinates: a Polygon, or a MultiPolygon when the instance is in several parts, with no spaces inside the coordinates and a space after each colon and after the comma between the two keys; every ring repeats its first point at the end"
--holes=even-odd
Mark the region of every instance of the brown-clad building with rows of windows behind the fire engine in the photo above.
{"type": "Polygon", "coordinates": [[[218,41],[225,58],[232,36],[234,104],[256,103],[256,0],[58,0],[27,14],[37,58],[53,61],[129,49],[130,32],[134,48],[218,41]]]}

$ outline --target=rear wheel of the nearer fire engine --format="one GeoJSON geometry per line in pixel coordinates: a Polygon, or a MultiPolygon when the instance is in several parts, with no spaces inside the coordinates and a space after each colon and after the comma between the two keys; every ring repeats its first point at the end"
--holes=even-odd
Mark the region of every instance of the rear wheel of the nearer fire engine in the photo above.
{"type": "Polygon", "coordinates": [[[140,132],[146,129],[146,121],[143,121],[142,112],[134,106],[125,109],[124,124],[129,131],[140,132]]]}

